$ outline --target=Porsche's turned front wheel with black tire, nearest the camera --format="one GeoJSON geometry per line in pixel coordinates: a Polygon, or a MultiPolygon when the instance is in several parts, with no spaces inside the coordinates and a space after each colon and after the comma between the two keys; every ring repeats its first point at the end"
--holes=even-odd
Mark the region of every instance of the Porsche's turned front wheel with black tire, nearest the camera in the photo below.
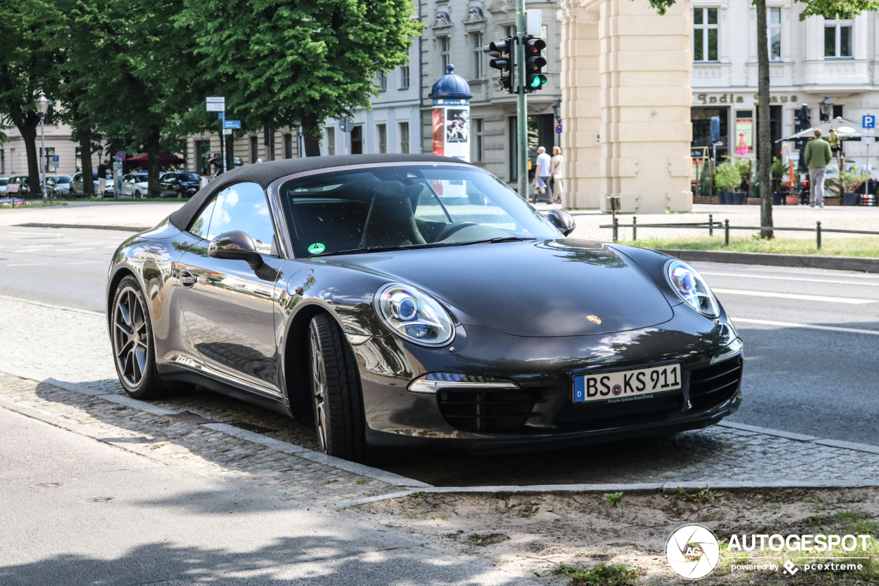
{"type": "Polygon", "coordinates": [[[365,462],[368,450],[357,361],[342,328],[326,314],[309,325],[309,363],[320,449],[330,456],[365,462]]]}

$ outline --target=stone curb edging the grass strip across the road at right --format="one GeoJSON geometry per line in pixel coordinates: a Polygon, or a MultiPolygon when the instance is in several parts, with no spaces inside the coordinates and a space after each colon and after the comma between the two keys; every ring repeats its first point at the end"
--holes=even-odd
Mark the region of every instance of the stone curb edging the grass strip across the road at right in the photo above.
{"type": "Polygon", "coordinates": [[[657,248],[680,260],[729,262],[739,265],[768,265],[771,267],[829,268],[837,271],[879,273],[879,259],[857,256],[811,256],[809,254],[734,253],[723,250],[680,250],[657,248]]]}

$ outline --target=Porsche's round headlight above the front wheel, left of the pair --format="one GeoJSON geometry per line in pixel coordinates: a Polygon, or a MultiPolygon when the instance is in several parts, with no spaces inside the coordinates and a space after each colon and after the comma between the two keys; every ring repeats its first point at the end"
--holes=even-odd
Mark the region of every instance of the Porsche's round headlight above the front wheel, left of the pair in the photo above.
{"type": "Polygon", "coordinates": [[[391,332],[422,346],[444,346],[454,338],[448,311],[410,285],[392,282],[375,294],[375,309],[391,332]]]}

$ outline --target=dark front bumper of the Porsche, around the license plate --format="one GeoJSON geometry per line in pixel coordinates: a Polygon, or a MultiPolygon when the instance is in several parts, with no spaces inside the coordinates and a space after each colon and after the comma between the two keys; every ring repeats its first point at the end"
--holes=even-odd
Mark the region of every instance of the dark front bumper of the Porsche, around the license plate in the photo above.
{"type": "Polygon", "coordinates": [[[680,305],[674,313],[661,326],[557,338],[458,326],[450,345],[454,352],[449,347],[418,347],[392,335],[371,338],[353,347],[360,366],[367,441],[427,451],[541,450],[713,425],[741,403],[742,356],[712,365],[712,357],[730,341],[729,326],[680,305]],[[670,361],[681,363],[679,391],[629,403],[571,400],[574,375],[670,361]],[[413,378],[427,372],[502,377],[519,388],[490,398],[473,391],[451,397],[407,391],[413,378]],[[514,402],[524,411],[511,416],[491,399],[514,402]]]}

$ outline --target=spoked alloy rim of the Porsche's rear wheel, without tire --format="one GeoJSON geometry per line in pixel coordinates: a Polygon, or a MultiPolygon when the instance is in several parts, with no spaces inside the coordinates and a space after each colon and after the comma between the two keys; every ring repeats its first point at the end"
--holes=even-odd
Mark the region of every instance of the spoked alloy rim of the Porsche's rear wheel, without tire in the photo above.
{"type": "Polygon", "coordinates": [[[116,297],[113,309],[113,351],[120,376],[128,385],[136,387],[141,384],[148,350],[146,311],[137,292],[126,287],[116,297]]]}

